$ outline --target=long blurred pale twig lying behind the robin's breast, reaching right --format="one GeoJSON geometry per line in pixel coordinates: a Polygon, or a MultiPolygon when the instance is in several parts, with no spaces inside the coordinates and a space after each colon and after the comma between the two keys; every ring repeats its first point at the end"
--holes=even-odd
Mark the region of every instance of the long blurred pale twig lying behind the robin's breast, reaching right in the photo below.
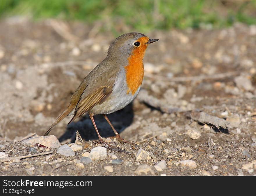
{"type": "Polygon", "coordinates": [[[145,76],[157,80],[162,80],[162,81],[171,81],[171,82],[186,82],[186,81],[200,81],[200,80],[205,80],[205,79],[221,79],[221,78],[226,78],[226,77],[231,77],[234,75],[238,75],[239,72],[234,71],[234,72],[226,72],[226,73],[220,73],[220,74],[215,74],[215,75],[199,75],[199,76],[190,76],[190,77],[173,77],[173,78],[168,78],[165,76],[159,76],[159,75],[153,75],[150,73],[146,73],[145,76]]]}

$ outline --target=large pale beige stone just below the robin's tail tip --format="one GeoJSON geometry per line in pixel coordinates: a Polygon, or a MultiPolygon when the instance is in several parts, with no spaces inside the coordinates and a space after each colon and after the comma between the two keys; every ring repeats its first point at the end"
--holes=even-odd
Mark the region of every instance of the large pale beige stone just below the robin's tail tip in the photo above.
{"type": "Polygon", "coordinates": [[[22,143],[30,143],[32,145],[35,145],[38,143],[51,149],[58,148],[61,146],[57,137],[55,137],[54,135],[32,137],[32,138],[23,140],[22,143]]]}

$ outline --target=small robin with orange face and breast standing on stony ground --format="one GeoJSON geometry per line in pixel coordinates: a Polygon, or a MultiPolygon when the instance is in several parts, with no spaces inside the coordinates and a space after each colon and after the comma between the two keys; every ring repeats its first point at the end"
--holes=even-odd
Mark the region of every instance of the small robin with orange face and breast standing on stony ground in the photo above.
{"type": "Polygon", "coordinates": [[[122,151],[102,140],[93,116],[102,114],[113,129],[117,139],[133,144],[118,134],[106,114],[127,106],[138,94],[143,77],[143,57],[148,44],[159,39],[149,39],[142,33],[125,33],[116,38],[109,46],[107,57],[99,63],[82,81],[70,98],[70,105],[54,121],[45,136],[67,115],[73,120],[88,112],[99,137],[106,148],[122,151]]]}

